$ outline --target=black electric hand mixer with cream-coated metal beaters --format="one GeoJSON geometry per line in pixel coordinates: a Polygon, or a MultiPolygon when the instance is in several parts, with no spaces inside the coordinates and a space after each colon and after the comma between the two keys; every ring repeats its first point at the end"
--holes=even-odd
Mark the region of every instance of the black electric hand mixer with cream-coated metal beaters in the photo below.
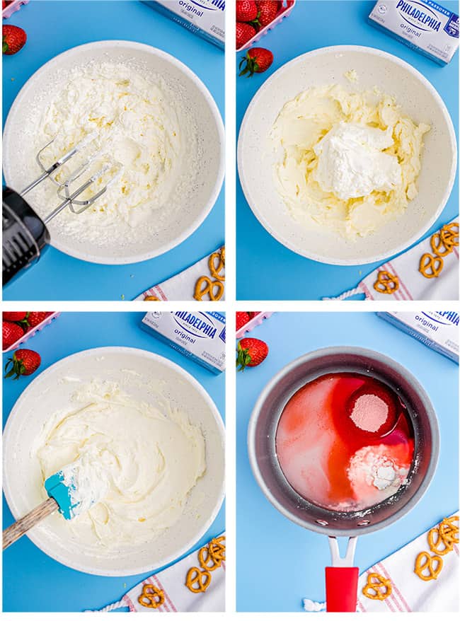
{"type": "Polygon", "coordinates": [[[38,261],[40,255],[45,250],[47,244],[50,243],[50,233],[47,224],[60,214],[63,209],[69,207],[74,214],[81,214],[88,209],[96,200],[104,194],[109,185],[117,177],[121,166],[119,163],[101,163],[101,165],[86,180],[81,182],[79,187],[74,188],[75,182],[86,171],[88,171],[94,156],[88,158],[81,166],[78,166],[73,173],[67,178],[58,182],[52,176],[77,153],[82,151],[93,140],[93,135],[89,134],[79,144],[67,151],[62,157],[58,158],[51,166],[46,166],[43,162],[44,151],[54,142],[55,138],[45,144],[38,151],[37,162],[42,170],[42,174],[35,179],[30,185],[24,188],[22,192],[15,192],[10,187],[4,187],[3,192],[3,284],[7,284],[14,277],[18,276],[23,269],[34,265],[38,261]],[[115,168],[115,172],[113,169],[115,168]],[[112,169],[113,175],[103,187],[96,187],[96,193],[82,200],[78,199],[93,184],[98,186],[103,179],[105,173],[112,169]],[[30,204],[23,198],[30,190],[37,187],[44,180],[50,179],[57,185],[57,196],[62,202],[53,209],[45,218],[40,218],[30,204]]]}

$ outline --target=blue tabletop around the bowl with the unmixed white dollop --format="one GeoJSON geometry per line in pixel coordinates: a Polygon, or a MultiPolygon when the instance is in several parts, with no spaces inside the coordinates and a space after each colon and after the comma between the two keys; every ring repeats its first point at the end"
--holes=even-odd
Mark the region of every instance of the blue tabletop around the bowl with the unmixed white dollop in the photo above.
{"type": "MultiPolygon", "coordinates": [[[[458,2],[444,0],[440,4],[458,13],[458,2]]],[[[291,15],[257,44],[272,50],[275,60],[270,69],[251,79],[236,78],[238,129],[255,92],[284,63],[318,47],[367,45],[395,54],[426,76],[444,99],[458,135],[459,52],[449,65],[442,67],[435,64],[369,25],[367,16],[373,6],[374,1],[297,0],[291,15]]],[[[239,62],[243,53],[237,56],[239,62]]],[[[457,195],[458,180],[447,206],[427,236],[439,228],[439,223],[444,224],[456,216],[459,207],[457,195]]],[[[239,181],[236,218],[236,297],[241,300],[316,300],[323,296],[337,296],[357,286],[379,265],[326,265],[284,248],[259,224],[246,202],[239,181]]]]}

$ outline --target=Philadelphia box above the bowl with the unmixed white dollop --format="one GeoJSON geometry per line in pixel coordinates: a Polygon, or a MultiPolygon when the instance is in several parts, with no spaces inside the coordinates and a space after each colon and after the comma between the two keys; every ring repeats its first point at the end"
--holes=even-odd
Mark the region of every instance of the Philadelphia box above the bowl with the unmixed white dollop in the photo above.
{"type": "Polygon", "coordinates": [[[378,0],[369,23],[438,64],[459,47],[459,16],[433,0],[378,0]]]}

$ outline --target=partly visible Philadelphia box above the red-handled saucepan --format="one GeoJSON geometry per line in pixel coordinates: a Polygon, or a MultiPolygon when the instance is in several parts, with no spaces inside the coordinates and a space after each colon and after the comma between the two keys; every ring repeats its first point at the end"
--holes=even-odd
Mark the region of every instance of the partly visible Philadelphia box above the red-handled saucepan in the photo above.
{"type": "Polygon", "coordinates": [[[377,315],[458,364],[459,313],[455,310],[377,313],[377,315]]]}

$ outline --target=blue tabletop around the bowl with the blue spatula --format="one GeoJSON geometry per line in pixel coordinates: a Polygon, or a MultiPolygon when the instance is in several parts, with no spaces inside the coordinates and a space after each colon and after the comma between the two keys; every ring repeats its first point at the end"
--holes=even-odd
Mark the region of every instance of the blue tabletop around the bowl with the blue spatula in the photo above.
{"type": "MultiPolygon", "coordinates": [[[[146,349],[165,356],[188,371],[207,390],[219,412],[224,414],[224,373],[214,376],[143,332],[139,327],[143,316],[143,313],[62,313],[50,326],[31,338],[26,347],[35,349],[42,356],[40,371],[64,356],[92,347],[121,345],[146,349]]],[[[8,354],[4,354],[4,364],[7,358],[8,354]]],[[[21,377],[18,381],[4,380],[4,423],[19,395],[35,376],[21,377]]],[[[5,499],[3,515],[6,528],[13,522],[13,516],[5,499]]],[[[214,523],[193,550],[224,530],[224,516],[222,506],[214,523]]],[[[4,552],[4,612],[81,612],[102,608],[119,600],[151,573],[119,578],[82,574],[47,557],[27,537],[23,537],[4,552]]]]}

